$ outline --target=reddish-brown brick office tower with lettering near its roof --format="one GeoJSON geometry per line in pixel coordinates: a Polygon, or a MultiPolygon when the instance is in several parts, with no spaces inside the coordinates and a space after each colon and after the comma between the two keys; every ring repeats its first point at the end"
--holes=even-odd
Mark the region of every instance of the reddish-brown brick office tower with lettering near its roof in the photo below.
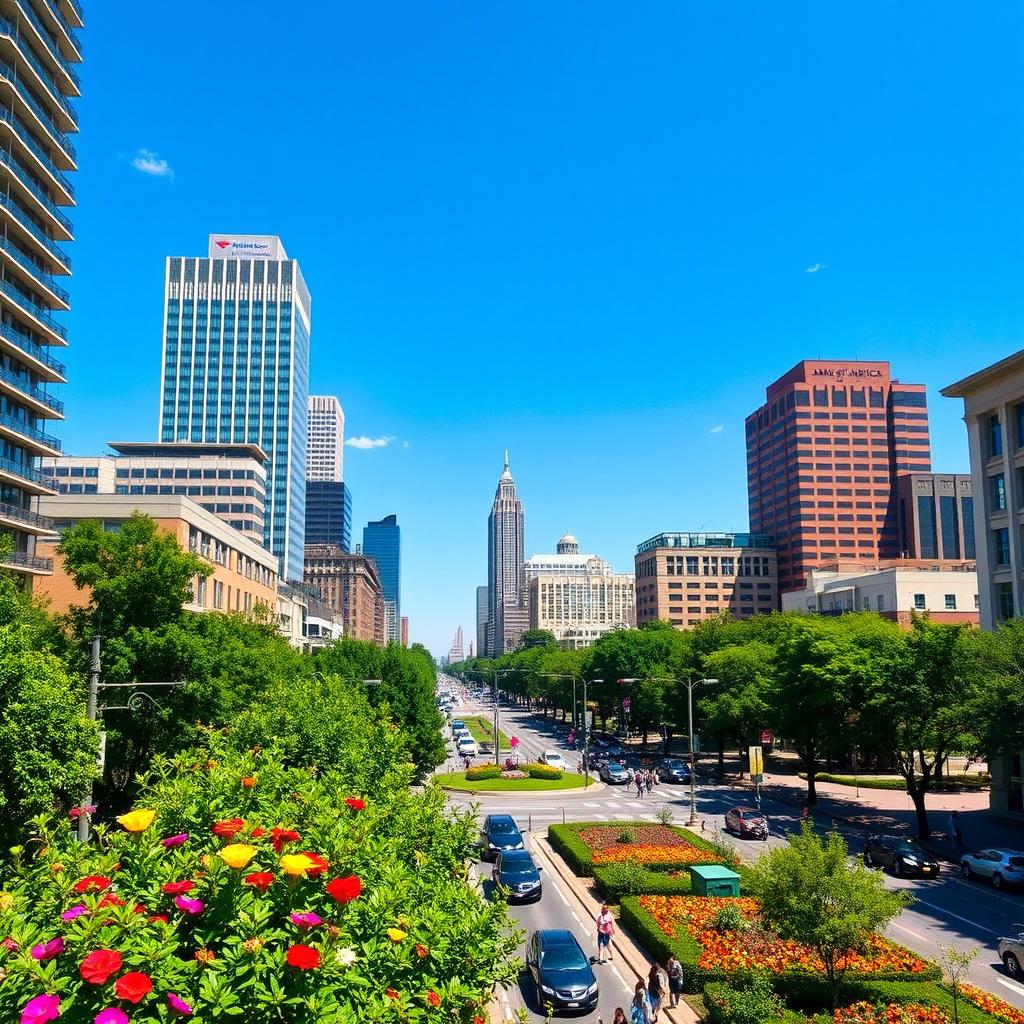
{"type": "Polygon", "coordinates": [[[896,477],[932,468],[925,385],[888,362],[805,359],[766,397],[746,418],[746,494],[779,592],[821,562],[898,557],[896,477]]]}

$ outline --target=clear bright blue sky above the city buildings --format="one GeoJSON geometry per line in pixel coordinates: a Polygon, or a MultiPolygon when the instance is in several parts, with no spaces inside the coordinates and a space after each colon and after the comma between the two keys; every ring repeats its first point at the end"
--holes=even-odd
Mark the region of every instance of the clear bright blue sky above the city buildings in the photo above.
{"type": "Polygon", "coordinates": [[[249,231],[302,263],[313,389],[392,438],[345,476],[436,652],[505,447],[527,555],[624,570],[745,527],[742,419],[800,358],[890,359],[967,468],[938,388],[1024,334],[1024,7],[244,8],[87,7],[69,451],[155,436],[164,257],[249,231]]]}

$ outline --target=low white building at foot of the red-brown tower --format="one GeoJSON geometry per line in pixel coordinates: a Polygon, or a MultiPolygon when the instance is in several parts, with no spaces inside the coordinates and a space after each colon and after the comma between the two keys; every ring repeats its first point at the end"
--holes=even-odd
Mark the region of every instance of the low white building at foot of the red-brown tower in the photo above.
{"type": "Polygon", "coordinates": [[[859,560],[811,569],[807,587],[782,595],[783,611],[839,615],[876,611],[901,626],[915,614],[936,623],[978,625],[978,574],[974,562],[859,560]]]}

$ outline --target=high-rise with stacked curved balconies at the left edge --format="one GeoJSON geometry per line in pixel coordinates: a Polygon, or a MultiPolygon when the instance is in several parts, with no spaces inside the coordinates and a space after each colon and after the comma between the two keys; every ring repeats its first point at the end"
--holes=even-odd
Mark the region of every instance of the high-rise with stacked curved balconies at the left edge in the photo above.
{"type": "Polygon", "coordinates": [[[68,330],[53,313],[71,308],[68,292],[57,284],[58,276],[71,274],[71,260],[58,243],[74,238],[60,208],[75,205],[66,175],[77,168],[69,135],[78,131],[78,114],[70,100],[80,95],[74,65],[82,59],[75,32],[82,27],[82,8],[77,2],[19,0],[5,5],[3,14],[0,529],[13,540],[3,559],[7,568],[49,574],[52,560],[36,554],[36,538],[52,537],[53,523],[36,506],[41,495],[57,488],[38,469],[38,458],[60,454],[60,441],[45,426],[63,419],[63,403],[49,393],[49,385],[68,379],[50,351],[68,344],[68,330]]]}

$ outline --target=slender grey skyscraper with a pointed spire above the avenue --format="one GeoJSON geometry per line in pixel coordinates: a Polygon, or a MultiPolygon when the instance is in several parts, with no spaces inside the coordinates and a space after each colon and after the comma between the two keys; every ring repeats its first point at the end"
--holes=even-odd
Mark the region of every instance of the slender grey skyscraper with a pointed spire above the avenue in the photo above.
{"type": "Polygon", "coordinates": [[[497,657],[515,646],[512,634],[524,628],[522,560],[525,519],[509,471],[509,454],[498,478],[487,517],[487,654],[497,657]]]}

